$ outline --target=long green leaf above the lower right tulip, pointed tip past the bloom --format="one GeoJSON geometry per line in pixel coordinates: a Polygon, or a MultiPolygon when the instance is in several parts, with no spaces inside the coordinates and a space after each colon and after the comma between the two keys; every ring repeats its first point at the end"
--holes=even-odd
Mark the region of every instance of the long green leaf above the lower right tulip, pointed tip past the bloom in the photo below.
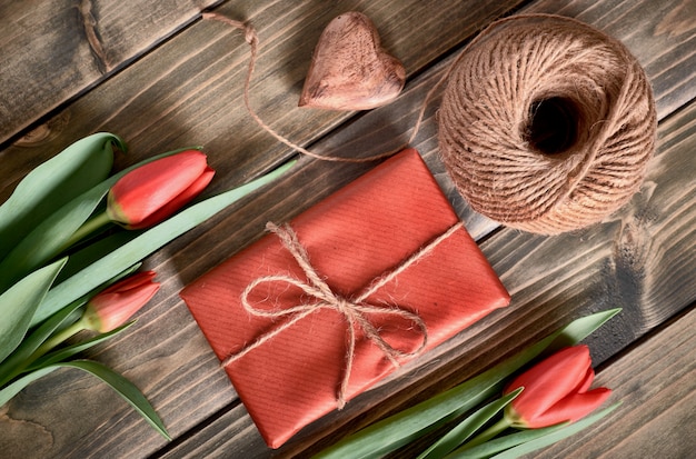
{"type": "Polygon", "coordinates": [[[503,391],[505,379],[546,349],[560,349],[585,339],[620,309],[579,318],[541,341],[504,360],[454,388],[414,407],[375,422],[316,455],[316,458],[379,458],[469,410],[503,391]]]}

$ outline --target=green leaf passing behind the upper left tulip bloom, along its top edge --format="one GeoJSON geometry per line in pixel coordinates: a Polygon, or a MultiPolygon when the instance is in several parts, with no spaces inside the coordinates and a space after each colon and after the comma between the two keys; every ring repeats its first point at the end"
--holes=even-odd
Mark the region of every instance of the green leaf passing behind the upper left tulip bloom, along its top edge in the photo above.
{"type": "Polygon", "coordinates": [[[0,262],[0,291],[16,280],[57,257],[71,243],[74,236],[99,206],[109,189],[126,173],[148,162],[176,154],[181,150],[169,151],[140,161],[76,197],[39,222],[0,262]]]}

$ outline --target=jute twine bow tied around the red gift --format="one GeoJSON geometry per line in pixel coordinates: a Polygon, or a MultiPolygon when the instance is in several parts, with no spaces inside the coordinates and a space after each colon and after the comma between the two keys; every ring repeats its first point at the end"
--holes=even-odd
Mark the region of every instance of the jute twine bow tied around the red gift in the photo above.
{"type": "Polygon", "coordinates": [[[445,239],[449,238],[461,223],[453,226],[449,230],[447,230],[444,235],[439,236],[435,240],[432,240],[427,246],[422,247],[419,251],[409,257],[405,262],[399,265],[396,269],[388,272],[385,276],[379,277],[375,281],[371,282],[369,288],[360,293],[356,298],[344,298],[339,295],[336,295],[331,288],[326,283],[324,279],[317,273],[316,269],[309,262],[309,256],[305,247],[300,243],[297,238],[297,235],[292,230],[289,224],[285,224],[282,227],[278,227],[271,222],[266,224],[266,229],[274,232],[278,236],[284,247],[292,255],[299,267],[304,270],[307,276],[308,282],[305,282],[300,279],[294,278],[291,276],[266,276],[253,280],[251,283],[247,286],[245,291],[241,293],[241,305],[243,308],[252,316],[257,317],[266,317],[270,319],[277,319],[281,317],[290,317],[290,319],[284,322],[281,326],[275,328],[274,330],[261,335],[253,342],[242,348],[240,351],[235,352],[227,357],[222,361],[222,367],[227,367],[231,362],[242,358],[253,349],[262,346],[265,342],[271,340],[277,335],[281,333],[286,329],[292,327],[296,322],[302,320],[305,317],[319,311],[320,309],[334,309],[340,312],[346,321],[348,322],[348,349],[346,352],[346,368],[344,371],[344,377],[341,380],[340,389],[337,395],[337,407],[341,409],[346,405],[346,391],[348,389],[348,383],[350,380],[350,373],[352,371],[352,365],[355,361],[355,349],[356,349],[356,331],[357,328],[362,329],[365,337],[372,341],[379,349],[385,353],[387,359],[395,367],[399,367],[398,359],[405,357],[415,357],[422,349],[425,349],[428,342],[428,331],[425,321],[415,312],[408,311],[406,309],[400,308],[386,308],[384,306],[375,306],[366,302],[366,299],[379,290],[385,283],[395,279],[401,271],[404,271],[409,266],[414,265],[416,261],[424,258],[426,255],[432,251],[432,249],[439,245],[445,239]],[[290,308],[285,309],[275,309],[275,310],[265,310],[252,306],[249,302],[249,295],[261,283],[275,283],[275,282],[285,282],[301,289],[309,297],[317,299],[318,301],[311,303],[302,303],[297,305],[290,308]],[[367,313],[380,313],[380,315],[392,315],[396,317],[400,317],[402,319],[410,320],[419,330],[421,335],[420,346],[412,351],[404,351],[400,349],[394,348],[389,342],[387,342],[380,335],[379,330],[369,321],[367,318],[367,313]]]}

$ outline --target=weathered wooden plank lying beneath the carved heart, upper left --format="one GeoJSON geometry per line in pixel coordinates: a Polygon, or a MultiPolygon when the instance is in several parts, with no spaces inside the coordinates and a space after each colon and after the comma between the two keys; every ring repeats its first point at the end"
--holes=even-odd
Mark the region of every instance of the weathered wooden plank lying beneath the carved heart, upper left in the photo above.
{"type": "MultiPolygon", "coordinates": [[[[230,4],[219,12],[248,19],[258,30],[261,49],[252,106],[274,129],[306,144],[352,116],[297,107],[319,34],[341,11],[365,11],[377,24],[382,46],[404,61],[410,76],[519,1],[483,7],[469,0],[446,6],[410,0],[399,4],[400,14],[384,0],[369,6],[357,0],[306,1],[291,8],[269,1],[230,4]]],[[[249,47],[238,31],[218,22],[196,23],[0,151],[0,200],[31,167],[100,130],[128,140],[131,153],[118,166],[180,146],[205,144],[218,171],[218,191],[267,170],[290,152],[243,109],[248,59],[249,47]]]]}

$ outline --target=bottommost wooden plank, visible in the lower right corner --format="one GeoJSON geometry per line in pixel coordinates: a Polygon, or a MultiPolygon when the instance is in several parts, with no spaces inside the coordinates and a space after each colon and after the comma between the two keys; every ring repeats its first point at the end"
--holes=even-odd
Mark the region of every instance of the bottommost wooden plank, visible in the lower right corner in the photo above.
{"type": "MultiPolygon", "coordinates": [[[[528,457],[689,457],[696,447],[692,435],[694,418],[689,416],[696,390],[696,365],[690,355],[695,320],[696,311],[692,309],[598,369],[594,387],[612,388],[607,406],[620,400],[619,409],[595,427],[528,457]]],[[[195,439],[162,451],[159,457],[269,457],[250,453],[261,449],[249,447],[250,440],[251,445],[258,443],[253,429],[243,408],[237,407],[195,439]],[[210,443],[215,443],[213,449],[209,449],[210,443]]],[[[404,450],[400,457],[415,452],[404,450]]]]}

